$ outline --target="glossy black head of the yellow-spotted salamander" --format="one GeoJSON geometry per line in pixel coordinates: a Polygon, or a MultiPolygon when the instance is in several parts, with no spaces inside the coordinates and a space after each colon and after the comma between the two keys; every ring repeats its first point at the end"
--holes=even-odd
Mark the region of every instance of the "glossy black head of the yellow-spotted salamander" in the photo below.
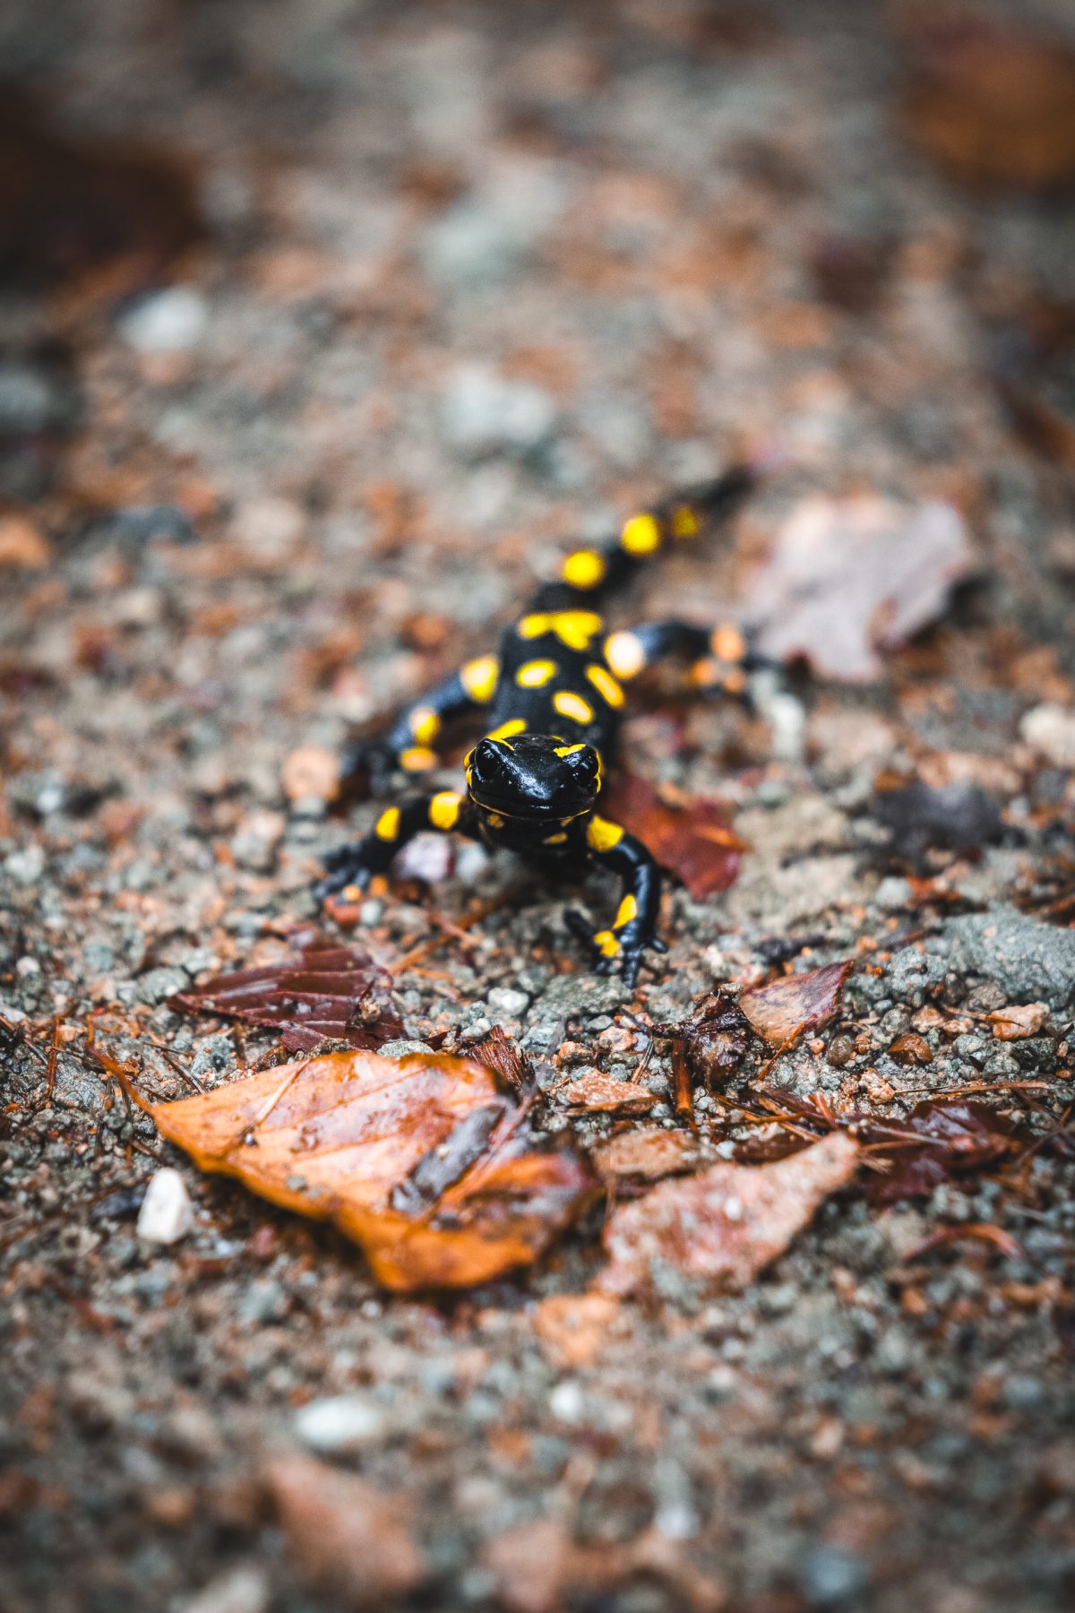
{"type": "Polygon", "coordinates": [[[593,745],[572,745],[559,734],[482,739],[466,760],[466,776],[480,813],[569,821],[593,806],[601,758],[593,745]]]}

